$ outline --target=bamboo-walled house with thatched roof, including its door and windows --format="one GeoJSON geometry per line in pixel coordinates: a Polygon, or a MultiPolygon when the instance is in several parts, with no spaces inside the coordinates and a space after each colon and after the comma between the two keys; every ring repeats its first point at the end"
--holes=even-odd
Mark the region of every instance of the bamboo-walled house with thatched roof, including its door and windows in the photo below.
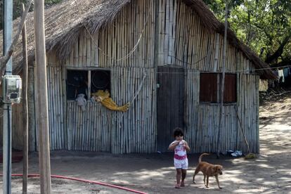
{"type": "MultiPolygon", "coordinates": [[[[30,83],[33,13],[27,18],[30,83]]],[[[15,20],[15,29],[18,24],[15,20]]],[[[201,0],[67,0],[45,11],[51,150],[167,152],[185,131],[192,153],[216,152],[224,24],[201,0]],[[107,89],[117,105],[91,101],[107,89]],[[84,93],[84,111],[75,98],[84,93]],[[134,98],[136,96],[136,98],[134,98]]],[[[1,40],[0,40],[1,41],[1,40]]],[[[13,55],[22,70],[21,42],[13,55]]],[[[259,79],[273,72],[228,30],[220,150],[259,153],[259,79]]],[[[30,150],[37,150],[37,96],[30,84],[30,150]]],[[[21,106],[13,105],[13,148],[22,148],[21,106]]]]}

